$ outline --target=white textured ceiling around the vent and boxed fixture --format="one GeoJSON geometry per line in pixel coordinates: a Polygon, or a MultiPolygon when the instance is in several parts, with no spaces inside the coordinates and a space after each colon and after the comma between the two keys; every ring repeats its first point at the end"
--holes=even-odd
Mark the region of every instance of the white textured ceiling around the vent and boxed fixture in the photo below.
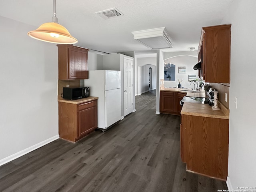
{"type": "MultiPolygon", "coordinates": [[[[219,25],[233,0],[56,0],[59,24],[77,38],[77,46],[116,53],[149,50],[133,40],[133,31],[166,27],[169,51],[198,48],[201,29],[219,25]],[[95,12],[116,7],[124,16],[103,19],[95,12]]],[[[53,0],[0,0],[0,15],[32,25],[51,22],[53,0]]]]}

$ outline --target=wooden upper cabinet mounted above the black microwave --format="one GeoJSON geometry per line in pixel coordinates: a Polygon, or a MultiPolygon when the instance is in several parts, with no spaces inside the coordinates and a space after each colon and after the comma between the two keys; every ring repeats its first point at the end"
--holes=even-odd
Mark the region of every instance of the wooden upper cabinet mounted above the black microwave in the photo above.
{"type": "Polygon", "coordinates": [[[59,80],[88,79],[88,50],[73,45],[58,46],[59,80]]]}

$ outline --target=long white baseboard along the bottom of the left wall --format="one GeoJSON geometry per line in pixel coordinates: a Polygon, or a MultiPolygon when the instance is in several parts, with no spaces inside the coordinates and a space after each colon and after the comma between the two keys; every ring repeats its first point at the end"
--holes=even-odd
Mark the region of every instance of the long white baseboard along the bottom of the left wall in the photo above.
{"type": "Polygon", "coordinates": [[[46,145],[50,142],[53,142],[53,141],[57,140],[58,138],[60,138],[59,135],[53,136],[52,138],[46,139],[46,140],[44,140],[44,141],[42,141],[38,144],[35,144],[35,145],[33,145],[29,148],[26,148],[22,151],[19,151],[19,152],[13,154],[13,155],[10,155],[10,156],[6,157],[4,159],[1,159],[0,160],[0,166],[3,165],[3,164],[6,164],[6,163],[8,163],[8,162],[10,162],[10,161],[12,161],[16,158],[19,158],[19,157],[21,157],[21,156],[23,156],[23,155],[25,155],[25,154],[27,154],[31,151],[34,151],[34,150],[36,150],[36,149],[38,149],[38,148],[40,148],[40,147],[42,147],[42,146],[44,146],[44,145],[46,145]]]}

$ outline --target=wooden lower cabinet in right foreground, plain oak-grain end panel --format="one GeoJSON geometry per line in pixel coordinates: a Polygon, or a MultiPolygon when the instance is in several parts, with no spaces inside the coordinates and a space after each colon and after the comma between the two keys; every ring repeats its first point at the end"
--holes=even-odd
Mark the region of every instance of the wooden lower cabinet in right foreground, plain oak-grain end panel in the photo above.
{"type": "Polygon", "coordinates": [[[188,171],[226,180],[228,124],[228,119],[182,114],[180,151],[188,171]]]}

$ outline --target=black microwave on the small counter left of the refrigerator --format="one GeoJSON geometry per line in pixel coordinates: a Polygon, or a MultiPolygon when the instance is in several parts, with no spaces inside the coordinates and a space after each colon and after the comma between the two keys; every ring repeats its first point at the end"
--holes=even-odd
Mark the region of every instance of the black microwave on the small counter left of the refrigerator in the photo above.
{"type": "Polygon", "coordinates": [[[90,88],[89,87],[64,87],[63,88],[63,98],[67,100],[76,100],[82,99],[90,96],[90,88]]]}

